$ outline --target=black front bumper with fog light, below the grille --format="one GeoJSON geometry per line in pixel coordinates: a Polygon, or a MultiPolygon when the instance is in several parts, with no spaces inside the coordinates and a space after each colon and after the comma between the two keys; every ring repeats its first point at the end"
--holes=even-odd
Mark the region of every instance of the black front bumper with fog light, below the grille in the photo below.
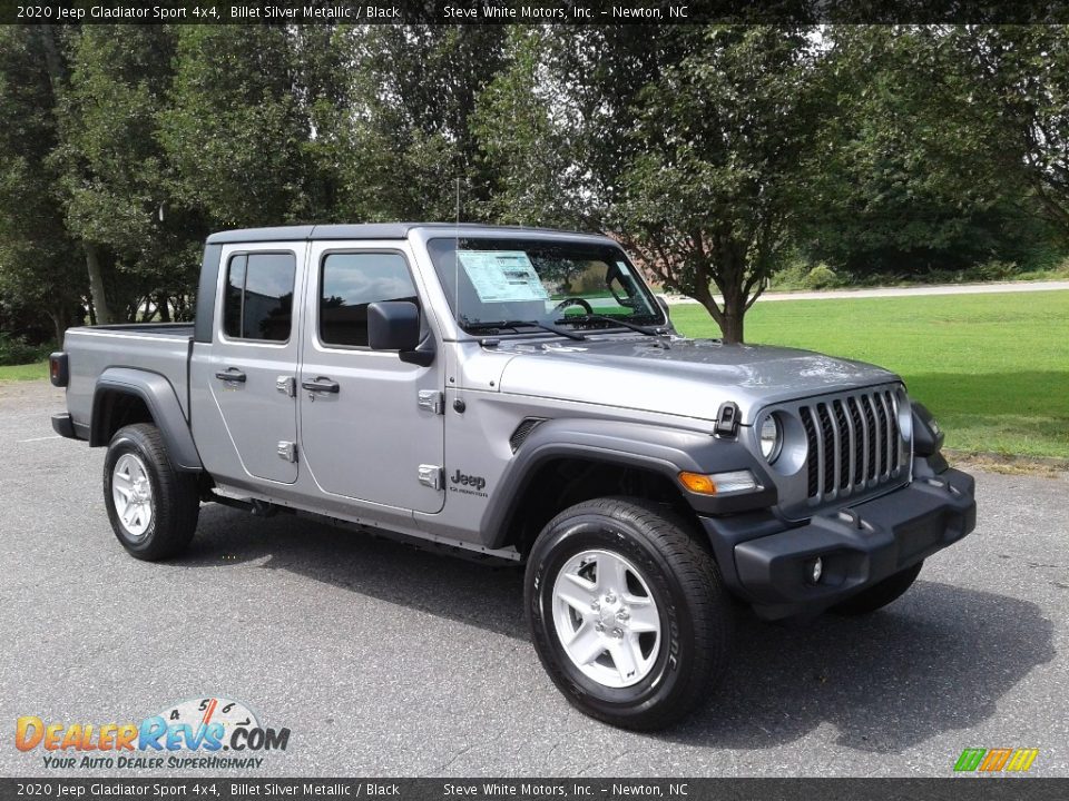
{"type": "Polygon", "coordinates": [[[821,612],[964,537],[977,525],[973,491],[972,476],[945,469],[795,528],[771,516],[703,524],[728,585],[762,616],[787,617],[821,612]],[[812,583],[817,557],[823,575],[812,583]]]}

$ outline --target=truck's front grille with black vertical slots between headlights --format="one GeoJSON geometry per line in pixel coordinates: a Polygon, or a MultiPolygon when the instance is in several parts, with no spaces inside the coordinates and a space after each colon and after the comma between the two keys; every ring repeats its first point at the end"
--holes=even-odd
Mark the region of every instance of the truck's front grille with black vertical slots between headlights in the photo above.
{"type": "Polygon", "coordinates": [[[898,397],[872,389],[798,407],[808,439],[808,497],[831,501],[872,488],[902,472],[898,397]]]}

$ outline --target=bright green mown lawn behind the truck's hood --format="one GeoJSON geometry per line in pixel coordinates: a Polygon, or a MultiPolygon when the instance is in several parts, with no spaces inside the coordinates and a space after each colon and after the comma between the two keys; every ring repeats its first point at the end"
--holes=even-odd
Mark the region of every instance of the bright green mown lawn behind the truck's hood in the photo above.
{"type": "MultiPolygon", "coordinates": [[[[719,336],[700,306],[671,318],[719,336]]],[[[893,369],[949,448],[1069,458],[1069,291],[757,303],[746,339],[893,369]]]]}

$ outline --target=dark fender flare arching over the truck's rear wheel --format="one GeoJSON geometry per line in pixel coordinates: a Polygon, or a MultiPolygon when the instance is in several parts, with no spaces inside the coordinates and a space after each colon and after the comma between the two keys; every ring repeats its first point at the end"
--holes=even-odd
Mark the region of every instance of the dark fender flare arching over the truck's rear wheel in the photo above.
{"type": "Polygon", "coordinates": [[[108,393],[134,395],[145,402],[153,422],[159,428],[167,445],[167,456],[175,469],[196,473],[204,469],[200,454],[193,442],[193,432],[178,403],[175,388],[159,373],[131,367],[108,367],[97,378],[92,390],[92,412],[89,416],[89,445],[107,445],[104,428],[106,404],[101,398],[108,393]]]}

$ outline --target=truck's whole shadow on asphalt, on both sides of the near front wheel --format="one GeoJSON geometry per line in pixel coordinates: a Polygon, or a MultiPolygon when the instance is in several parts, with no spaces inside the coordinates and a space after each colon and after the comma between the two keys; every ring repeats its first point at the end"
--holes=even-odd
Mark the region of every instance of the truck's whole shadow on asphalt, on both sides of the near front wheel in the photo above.
{"type": "MultiPolygon", "coordinates": [[[[300,517],[262,520],[206,506],[190,552],[176,564],[226,570],[251,562],[527,640],[521,571],[300,517]]],[[[762,749],[827,723],[841,745],[896,753],[979,725],[1032,669],[1055,657],[1053,626],[1033,603],[923,575],[900,601],[866,617],[825,615],[786,626],[741,614],[725,681],[703,711],[657,736],[762,749]]]]}

